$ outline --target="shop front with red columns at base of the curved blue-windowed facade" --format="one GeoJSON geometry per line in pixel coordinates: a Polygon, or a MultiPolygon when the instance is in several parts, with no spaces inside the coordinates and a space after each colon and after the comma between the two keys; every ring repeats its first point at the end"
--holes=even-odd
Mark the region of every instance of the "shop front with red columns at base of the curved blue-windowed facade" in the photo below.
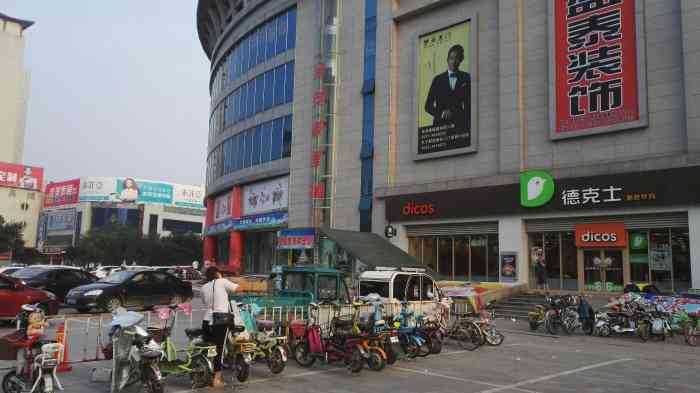
{"type": "Polygon", "coordinates": [[[237,274],[287,264],[277,232],[287,227],[289,178],[237,186],[207,200],[204,259],[237,274]]]}

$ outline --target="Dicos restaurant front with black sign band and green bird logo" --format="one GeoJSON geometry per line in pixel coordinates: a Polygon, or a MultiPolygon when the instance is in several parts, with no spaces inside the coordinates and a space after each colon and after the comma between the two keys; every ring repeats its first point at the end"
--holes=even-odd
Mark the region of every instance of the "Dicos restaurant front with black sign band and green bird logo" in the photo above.
{"type": "Polygon", "coordinates": [[[605,293],[634,281],[681,292],[700,287],[698,173],[529,171],[519,183],[391,196],[387,232],[444,279],[605,293]]]}

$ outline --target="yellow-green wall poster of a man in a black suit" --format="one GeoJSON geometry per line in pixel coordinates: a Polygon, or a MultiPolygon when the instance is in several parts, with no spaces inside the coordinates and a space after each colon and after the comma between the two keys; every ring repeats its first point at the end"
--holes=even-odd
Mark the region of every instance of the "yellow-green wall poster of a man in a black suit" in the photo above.
{"type": "Polygon", "coordinates": [[[418,40],[416,159],[476,151],[471,21],[418,40]]]}

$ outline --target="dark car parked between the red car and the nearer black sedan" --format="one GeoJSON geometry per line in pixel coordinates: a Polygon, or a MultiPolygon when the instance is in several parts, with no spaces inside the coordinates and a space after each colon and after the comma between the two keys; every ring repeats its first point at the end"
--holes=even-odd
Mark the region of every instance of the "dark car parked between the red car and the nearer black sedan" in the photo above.
{"type": "Polygon", "coordinates": [[[67,266],[28,266],[10,276],[22,280],[28,287],[53,293],[59,301],[63,301],[72,288],[97,281],[92,274],[67,266]]]}

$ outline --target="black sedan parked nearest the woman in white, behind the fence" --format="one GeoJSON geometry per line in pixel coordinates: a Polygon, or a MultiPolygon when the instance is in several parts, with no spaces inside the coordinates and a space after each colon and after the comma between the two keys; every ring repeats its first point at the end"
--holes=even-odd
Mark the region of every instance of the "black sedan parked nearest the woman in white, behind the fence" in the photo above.
{"type": "Polygon", "coordinates": [[[150,309],[192,299],[192,284],[157,270],[122,270],[94,284],[73,288],[66,304],[79,312],[100,309],[114,312],[119,307],[150,309]]]}

